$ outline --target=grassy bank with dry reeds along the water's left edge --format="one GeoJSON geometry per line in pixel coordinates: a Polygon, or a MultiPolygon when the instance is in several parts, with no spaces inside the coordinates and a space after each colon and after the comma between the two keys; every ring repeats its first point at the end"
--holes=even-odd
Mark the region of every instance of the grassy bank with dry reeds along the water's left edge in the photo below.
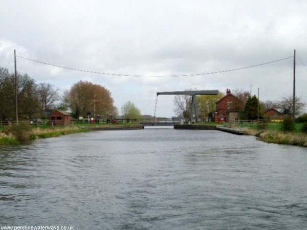
{"type": "Polygon", "coordinates": [[[19,144],[35,139],[87,131],[89,129],[77,126],[31,127],[29,125],[17,125],[5,127],[3,131],[0,131],[0,144],[19,144]]]}

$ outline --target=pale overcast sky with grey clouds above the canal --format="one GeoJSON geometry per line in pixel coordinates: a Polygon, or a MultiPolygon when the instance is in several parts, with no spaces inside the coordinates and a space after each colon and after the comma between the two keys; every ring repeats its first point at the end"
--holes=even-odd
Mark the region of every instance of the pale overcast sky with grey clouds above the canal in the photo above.
{"type": "MultiPolygon", "coordinates": [[[[307,101],[307,1],[14,1],[0,7],[0,66],[18,56],[123,75],[224,71],[293,56],[296,94],[307,101]],[[300,59],[299,59],[300,58],[300,59]],[[304,65],[303,65],[303,64],[304,65]]],[[[293,93],[293,58],[234,72],[188,77],[98,75],[17,57],[17,71],[61,92],[80,80],[111,91],[153,116],[157,91],[226,93],[244,88],[260,100],[293,93]]],[[[157,116],[174,116],[173,96],[159,96],[157,116]]]]}

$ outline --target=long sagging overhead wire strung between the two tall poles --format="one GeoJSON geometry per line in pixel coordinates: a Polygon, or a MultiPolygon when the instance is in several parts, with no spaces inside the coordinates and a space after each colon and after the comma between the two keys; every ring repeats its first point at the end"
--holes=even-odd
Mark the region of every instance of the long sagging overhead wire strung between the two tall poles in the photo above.
{"type": "Polygon", "coordinates": [[[244,70],[244,69],[246,69],[246,68],[257,67],[257,66],[260,66],[260,65],[266,65],[266,64],[273,63],[273,62],[277,62],[277,61],[282,61],[282,60],[286,60],[286,59],[289,59],[289,58],[293,58],[293,56],[290,56],[290,57],[281,58],[281,59],[274,60],[274,61],[268,61],[268,62],[265,62],[265,63],[256,64],[256,65],[250,65],[250,66],[245,66],[245,67],[240,67],[240,68],[233,68],[233,69],[231,69],[231,70],[208,72],[208,73],[203,73],[203,74],[183,74],[183,75],[147,76],[147,75],[111,74],[111,73],[102,73],[102,72],[96,72],[96,71],[79,70],[78,68],[71,68],[71,67],[66,67],[66,66],[60,66],[60,65],[50,64],[50,63],[47,63],[47,62],[37,61],[37,60],[33,60],[33,59],[30,59],[30,58],[21,57],[21,56],[17,56],[17,55],[16,55],[16,57],[23,58],[23,59],[26,59],[26,60],[29,60],[29,61],[34,61],[34,62],[41,63],[41,64],[45,64],[45,65],[51,65],[51,66],[55,66],[55,67],[59,67],[59,68],[65,68],[65,69],[67,69],[67,70],[80,71],[80,72],[85,72],[85,73],[101,74],[101,75],[109,75],[109,76],[152,77],[152,78],[155,78],[155,77],[189,77],[189,76],[200,76],[200,75],[209,75],[209,74],[220,74],[220,73],[226,73],[226,72],[244,70]]]}

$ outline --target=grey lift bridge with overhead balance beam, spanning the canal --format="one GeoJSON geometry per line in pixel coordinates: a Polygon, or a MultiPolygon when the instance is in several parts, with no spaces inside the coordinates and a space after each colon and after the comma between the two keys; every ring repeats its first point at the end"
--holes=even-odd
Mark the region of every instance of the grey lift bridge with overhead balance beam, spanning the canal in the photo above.
{"type": "MultiPolygon", "coordinates": [[[[193,117],[195,118],[196,122],[199,122],[199,116],[198,116],[198,108],[197,108],[197,99],[196,95],[217,95],[218,90],[188,90],[188,91],[172,91],[172,92],[157,92],[157,98],[156,98],[156,105],[155,105],[155,114],[153,116],[154,121],[156,118],[156,109],[157,109],[157,101],[158,101],[158,96],[159,95],[186,95],[186,96],[191,96],[192,97],[192,104],[190,108],[190,122],[192,122],[193,117]]],[[[172,122],[153,122],[153,123],[143,123],[144,126],[148,125],[153,125],[153,126],[161,126],[161,125],[173,125],[174,121],[172,122]]]]}

